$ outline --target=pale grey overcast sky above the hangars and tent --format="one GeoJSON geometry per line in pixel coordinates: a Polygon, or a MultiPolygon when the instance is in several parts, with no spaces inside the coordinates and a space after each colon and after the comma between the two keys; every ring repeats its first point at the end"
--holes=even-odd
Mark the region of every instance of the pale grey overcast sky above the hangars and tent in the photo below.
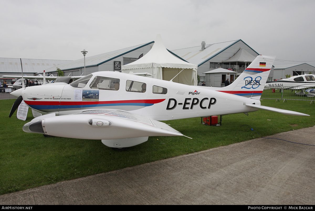
{"type": "MultiPolygon", "coordinates": [[[[315,1],[1,0],[0,57],[77,60],[153,41],[169,50],[242,39],[315,66],[315,1]]],[[[292,62],[301,61],[301,62],[292,62]]]]}

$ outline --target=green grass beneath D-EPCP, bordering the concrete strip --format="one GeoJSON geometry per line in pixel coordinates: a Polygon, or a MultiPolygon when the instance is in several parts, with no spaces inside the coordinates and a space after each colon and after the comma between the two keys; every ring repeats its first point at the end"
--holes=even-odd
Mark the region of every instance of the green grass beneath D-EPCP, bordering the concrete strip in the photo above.
{"type": "Polygon", "coordinates": [[[296,130],[315,125],[314,104],[309,101],[277,102],[261,100],[262,105],[307,113],[310,117],[283,115],[259,110],[249,116],[223,116],[222,126],[201,124],[201,118],[164,121],[182,134],[192,137],[149,137],[147,142],[117,152],[100,140],[44,137],[25,133],[22,126],[32,119],[29,111],[26,121],[9,118],[15,99],[0,100],[1,149],[0,194],[25,190],[73,178],[190,154],[209,148],[226,146],[261,136],[296,130]],[[269,119],[269,120],[268,120],[269,119]],[[249,126],[242,126],[247,124],[249,126]],[[291,126],[291,125],[297,126],[291,126]],[[241,127],[242,126],[242,127],[241,127]],[[251,131],[253,128],[255,131],[251,131]],[[258,135],[258,132],[260,135],[258,135]]]}

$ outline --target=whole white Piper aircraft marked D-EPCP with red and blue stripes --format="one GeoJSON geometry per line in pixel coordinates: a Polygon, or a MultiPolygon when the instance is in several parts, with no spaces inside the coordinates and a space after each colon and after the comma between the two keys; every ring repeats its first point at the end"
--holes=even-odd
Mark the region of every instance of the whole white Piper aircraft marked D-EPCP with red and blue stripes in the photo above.
{"type": "MultiPolygon", "coordinates": [[[[261,105],[259,99],[274,59],[257,56],[231,85],[222,88],[188,86],[103,71],[70,84],[26,87],[11,94],[45,114],[25,124],[25,132],[101,139],[108,147],[126,148],[147,141],[148,136],[184,136],[159,120],[247,113],[258,109],[309,116],[261,105]]],[[[12,107],[13,112],[16,107],[12,107]]]]}

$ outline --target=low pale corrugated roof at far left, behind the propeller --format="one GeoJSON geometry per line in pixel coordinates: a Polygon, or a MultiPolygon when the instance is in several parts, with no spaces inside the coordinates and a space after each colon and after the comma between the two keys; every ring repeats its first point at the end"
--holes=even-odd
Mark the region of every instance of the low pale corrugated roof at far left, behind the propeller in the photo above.
{"type": "MultiPolygon", "coordinates": [[[[23,73],[37,73],[71,60],[22,59],[23,73]]],[[[0,72],[21,73],[19,58],[0,58],[0,72]]]]}

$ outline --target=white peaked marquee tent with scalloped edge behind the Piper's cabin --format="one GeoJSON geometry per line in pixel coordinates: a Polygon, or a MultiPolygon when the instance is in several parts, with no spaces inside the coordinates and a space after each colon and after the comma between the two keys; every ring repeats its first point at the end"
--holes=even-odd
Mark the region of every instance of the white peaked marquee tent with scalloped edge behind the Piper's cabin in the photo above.
{"type": "Polygon", "coordinates": [[[171,80],[182,69],[173,81],[197,86],[197,68],[198,65],[191,64],[181,60],[171,54],[164,46],[161,35],[157,34],[152,49],[140,59],[123,65],[123,73],[150,73],[153,78],[171,80]]]}

